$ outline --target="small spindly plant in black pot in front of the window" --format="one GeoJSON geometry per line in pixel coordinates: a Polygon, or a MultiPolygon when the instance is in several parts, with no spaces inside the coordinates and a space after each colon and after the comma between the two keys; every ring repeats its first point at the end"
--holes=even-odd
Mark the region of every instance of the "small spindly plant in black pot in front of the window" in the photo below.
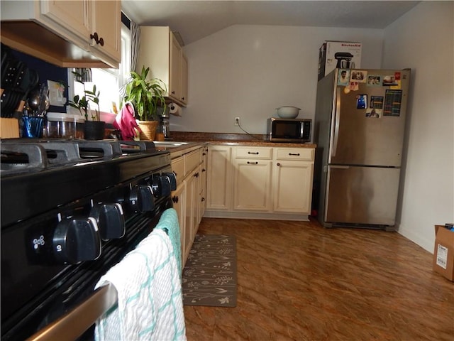
{"type": "Polygon", "coordinates": [[[106,122],[101,121],[99,116],[99,90],[96,90],[96,85],[93,85],[92,90],[87,90],[84,82],[80,82],[81,75],[78,72],[72,72],[76,76],[77,82],[84,86],[84,95],[80,97],[78,94],[74,96],[72,101],[68,103],[71,107],[79,110],[80,114],[85,117],[84,123],[84,139],[87,140],[102,140],[104,139],[104,130],[106,122]],[[94,109],[90,108],[89,103],[95,104],[94,109]],[[91,120],[89,120],[91,119],[91,120]]]}

